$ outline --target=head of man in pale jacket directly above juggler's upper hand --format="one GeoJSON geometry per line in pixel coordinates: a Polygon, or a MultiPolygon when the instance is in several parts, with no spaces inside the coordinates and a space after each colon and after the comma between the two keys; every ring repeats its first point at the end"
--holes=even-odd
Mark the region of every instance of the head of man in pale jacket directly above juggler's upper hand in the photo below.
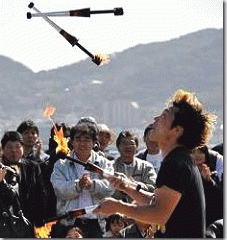
{"type": "Polygon", "coordinates": [[[125,164],[131,164],[137,152],[139,141],[137,136],[126,130],[122,131],[116,140],[116,146],[120,153],[121,160],[125,164]]]}

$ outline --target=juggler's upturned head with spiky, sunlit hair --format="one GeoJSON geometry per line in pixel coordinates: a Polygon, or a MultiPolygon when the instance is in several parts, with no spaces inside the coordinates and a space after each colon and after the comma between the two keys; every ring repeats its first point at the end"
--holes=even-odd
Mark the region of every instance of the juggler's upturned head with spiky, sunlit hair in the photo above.
{"type": "Polygon", "coordinates": [[[167,104],[162,114],[155,117],[151,140],[162,146],[182,145],[188,150],[209,142],[216,115],[205,112],[194,94],[180,89],[167,104]]]}

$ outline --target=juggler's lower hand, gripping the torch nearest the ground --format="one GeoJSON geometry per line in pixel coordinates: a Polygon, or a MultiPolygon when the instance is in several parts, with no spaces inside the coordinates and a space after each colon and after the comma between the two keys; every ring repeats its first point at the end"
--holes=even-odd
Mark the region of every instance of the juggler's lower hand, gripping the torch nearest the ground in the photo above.
{"type": "Polygon", "coordinates": [[[98,207],[93,210],[93,213],[109,216],[119,212],[122,204],[122,202],[114,198],[105,198],[99,203],[98,207]]]}

